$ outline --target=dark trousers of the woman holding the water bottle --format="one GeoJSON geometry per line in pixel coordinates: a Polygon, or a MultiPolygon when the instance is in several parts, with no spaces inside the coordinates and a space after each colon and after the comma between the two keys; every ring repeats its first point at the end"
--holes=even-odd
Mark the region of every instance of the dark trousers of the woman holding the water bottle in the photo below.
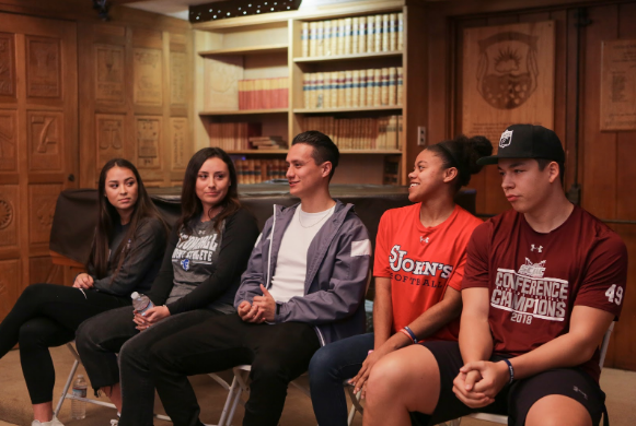
{"type": "Polygon", "coordinates": [[[154,382],[148,366],[152,345],[220,315],[213,310],[196,309],[167,317],[140,332],[132,322],[132,307],[126,307],[104,312],[82,323],[76,344],[91,386],[96,391],[118,383],[122,378],[123,410],[119,425],[152,425],[154,382]]]}

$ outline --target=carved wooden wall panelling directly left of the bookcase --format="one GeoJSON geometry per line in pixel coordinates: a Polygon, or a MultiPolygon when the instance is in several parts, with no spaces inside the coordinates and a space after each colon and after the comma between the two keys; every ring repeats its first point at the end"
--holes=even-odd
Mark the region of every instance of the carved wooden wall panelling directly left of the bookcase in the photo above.
{"type": "Polygon", "coordinates": [[[146,184],[181,180],[192,147],[192,33],[127,20],[80,23],[81,186],[94,188],[101,167],[120,156],[146,184]],[[94,70],[94,72],[93,72],[94,70]]]}

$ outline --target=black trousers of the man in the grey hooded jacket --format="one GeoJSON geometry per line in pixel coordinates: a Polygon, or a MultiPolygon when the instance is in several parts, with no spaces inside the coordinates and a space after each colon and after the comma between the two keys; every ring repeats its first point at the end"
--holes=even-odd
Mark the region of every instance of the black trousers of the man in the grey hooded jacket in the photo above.
{"type": "Polygon", "coordinates": [[[276,426],[287,386],[307,371],[320,347],[314,328],[300,322],[253,324],[236,313],[211,318],[154,344],[150,370],[175,426],[203,425],[187,376],[251,364],[243,425],[276,426]]]}

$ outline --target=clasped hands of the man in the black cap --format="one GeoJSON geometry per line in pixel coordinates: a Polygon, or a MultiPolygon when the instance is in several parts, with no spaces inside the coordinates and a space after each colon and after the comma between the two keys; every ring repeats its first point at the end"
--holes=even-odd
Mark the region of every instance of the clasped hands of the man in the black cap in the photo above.
{"type": "Polygon", "coordinates": [[[504,362],[467,363],[453,380],[453,392],[471,409],[481,409],[495,402],[495,397],[510,379],[509,375],[504,362]]]}

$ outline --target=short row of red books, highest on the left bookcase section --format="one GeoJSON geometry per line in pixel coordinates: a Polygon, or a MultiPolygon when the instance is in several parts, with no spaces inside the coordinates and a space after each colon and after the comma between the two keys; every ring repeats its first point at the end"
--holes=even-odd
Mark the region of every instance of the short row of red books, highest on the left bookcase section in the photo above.
{"type": "Polygon", "coordinates": [[[289,79],[239,80],[239,109],[287,108],[289,79]]]}

